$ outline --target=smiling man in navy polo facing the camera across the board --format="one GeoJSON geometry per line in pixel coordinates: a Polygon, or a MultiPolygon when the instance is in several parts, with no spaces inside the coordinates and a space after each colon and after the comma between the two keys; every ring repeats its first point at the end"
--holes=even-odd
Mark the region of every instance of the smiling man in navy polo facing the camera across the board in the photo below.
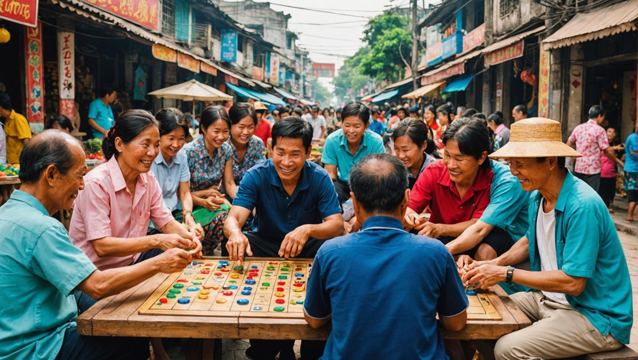
{"type": "MultiPolygon", "coordinates": [[[[244,253],[286,259],[314,257],[326,239],[343,235],[334,184],[328,172],[306,160],[312,137],[312,126],[299,117],[286,117],[272,126],[272,159],[248,170],[239,184],[224,223],[228,241],[222,241],[223,256],[238,264],[244,261],[244,253]],[[242,232],[253,209],[251,231],[242,232]]],[[[274,359],[281,351],[279,359],[294,359],[292,345],[292,340],[251,340],[246,354],[253,360],[274,359]]]]}

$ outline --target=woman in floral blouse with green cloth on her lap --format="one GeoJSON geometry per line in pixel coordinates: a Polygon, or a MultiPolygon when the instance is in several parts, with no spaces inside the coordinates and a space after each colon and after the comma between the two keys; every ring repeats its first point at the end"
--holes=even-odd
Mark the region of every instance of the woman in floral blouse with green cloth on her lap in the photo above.
{"type": "Polygon", "coordinates": [[[191,195],[193,204],[197,206],[193,209],[193,215],[198,223],[207,224],[204,225],[202,241],[204,255],[212,254],[224,236],[223,225],[229,204],[219,193],[219,186],[223,183],[226,193],[232,198],[237,192],[232,148],[226,142],[230,137],[231,125],[223,107],[207,107],[200,119],[202,137],[184,147],[191,171],[191,195]]]}

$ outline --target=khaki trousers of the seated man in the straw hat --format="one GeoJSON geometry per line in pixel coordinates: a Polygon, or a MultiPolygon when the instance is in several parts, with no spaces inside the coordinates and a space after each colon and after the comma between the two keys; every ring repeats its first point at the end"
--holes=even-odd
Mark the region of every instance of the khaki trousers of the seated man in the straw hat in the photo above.
{"type": "Polygon", "coordinates": [[[542,292],[517,292],[510,299],[530,318],[529,327],[501,336],[496,360],[560,359],[592,352],[618,350],[611,333],[602,336],[579,311],[554,303],[542,292]]]}

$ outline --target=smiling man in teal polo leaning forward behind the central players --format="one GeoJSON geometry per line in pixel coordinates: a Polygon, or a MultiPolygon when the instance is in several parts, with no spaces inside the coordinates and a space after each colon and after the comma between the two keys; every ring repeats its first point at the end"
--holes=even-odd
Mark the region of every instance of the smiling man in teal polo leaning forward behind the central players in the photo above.
{"type": "Polygon", "coordinates": [[[348,174],[367,154],[385,153],[381,135],[368,129],[370,110],[362,103],[349,103],[341,112],[341,129],[331,133],[323,146],[322,163],[334,181],[339,204],[350,199],[348,174]]]}

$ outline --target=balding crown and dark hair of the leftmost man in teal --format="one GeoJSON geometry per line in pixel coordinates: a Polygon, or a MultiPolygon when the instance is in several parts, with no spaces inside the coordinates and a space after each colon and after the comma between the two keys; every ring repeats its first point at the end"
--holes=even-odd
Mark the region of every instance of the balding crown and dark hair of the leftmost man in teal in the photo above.
{"type": "Polygon", "coordinates": [[[80,142],[61,130],[45,130],[35,135],[20,153],[20,181],[36,183],[48,165],[55,165],[61,174],[73,167],[74,159],[84,158],[80,142]]]}

